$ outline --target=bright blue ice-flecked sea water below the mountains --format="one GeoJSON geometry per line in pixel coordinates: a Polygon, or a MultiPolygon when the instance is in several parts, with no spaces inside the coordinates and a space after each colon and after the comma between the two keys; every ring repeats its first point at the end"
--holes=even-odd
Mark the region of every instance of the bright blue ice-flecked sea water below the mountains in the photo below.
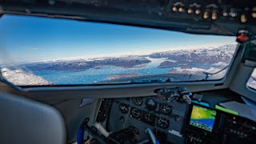
{"type": "MultiPolygon", "coordinates": [[[[158,68],[161,62],[164,62],[166,58],[148,58],[150,63],[134,66],[132,68],[124,68],[120,66],[101,66],[98,68],[91,68],[88,70],[55,70],[55,71],[34,71],[33,73],[46,79],[48,82],[55,85],[75,85],[75,84],[88,84],[94,82],[102,82],[110,80],[115,75],[121,76],[127,74],[134,74],[136,76],[141,75],[154,75],[154,74],[166,74],[168,70],[179,66],[170,66],[166,68],[158,68]]],[[[194,64],[194,66],[211,67],[202,64],[194,64]]],[[[119,76],[119,77],[121,77],[119,76]]],[[[132,76],[132,75],[130,75],[132,76]]]]}

